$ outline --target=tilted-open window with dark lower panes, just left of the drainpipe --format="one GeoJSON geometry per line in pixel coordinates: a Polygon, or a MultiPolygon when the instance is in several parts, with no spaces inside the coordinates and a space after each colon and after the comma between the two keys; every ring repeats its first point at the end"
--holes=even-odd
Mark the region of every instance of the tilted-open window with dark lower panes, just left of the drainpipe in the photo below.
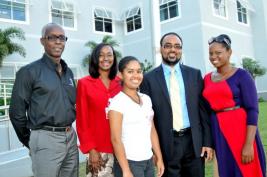
{"type": "Polygon", "coordinates": [[[132,32],[142,28],[142,18],[140,7],[134,7],[125,12],[127,32],[132,32]]]}

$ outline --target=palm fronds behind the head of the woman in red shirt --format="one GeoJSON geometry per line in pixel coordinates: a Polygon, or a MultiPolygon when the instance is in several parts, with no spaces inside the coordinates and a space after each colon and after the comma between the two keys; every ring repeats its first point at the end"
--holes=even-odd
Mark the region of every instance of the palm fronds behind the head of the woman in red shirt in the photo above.
{"type": "MultiPolygon", "coordinates": [[[[101,42],[111,45],[114,48],[114,52],[117,56],[117,59],[121,58],[121,53],[115,49],[116,47],[119,46],[119,43],[116,40],[114,40],[112,38],[112,36],[105,35],[101,42]]],[[[90,53],[88,55],[86,55],[83,59],[83,65],[84,66],[87,66],[89,64],[89,60],[91,58],[91,52],[94,50],[94,48],[97,46],[97,44],[98,43],[95,41],[88,41],[87,43],[85,43],[85,46],[90,48],[90,53]]]]}

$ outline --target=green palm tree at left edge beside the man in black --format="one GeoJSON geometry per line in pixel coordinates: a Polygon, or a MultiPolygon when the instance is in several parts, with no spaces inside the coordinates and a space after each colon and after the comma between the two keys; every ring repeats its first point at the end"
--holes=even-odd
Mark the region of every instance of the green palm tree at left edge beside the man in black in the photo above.
{"type": "Polygon", "coordinates": [[[9,27],[5,30],[0,29],[0,67],[2,66],[4,58],[8,55],[17,52],[23,57],[26,56],[24,47],[13,42],[13,38],[25,40],[24,32],[17,27],[9,27]]]}

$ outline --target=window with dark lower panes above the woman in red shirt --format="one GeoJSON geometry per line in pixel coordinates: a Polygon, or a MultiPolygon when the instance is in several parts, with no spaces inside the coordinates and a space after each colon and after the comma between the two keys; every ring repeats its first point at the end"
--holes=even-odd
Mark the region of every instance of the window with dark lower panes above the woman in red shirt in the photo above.
{"type": "Polygon", "coordinates": [[[96,8],[95,16],[95,31],[112,33],[112,13],[104,8],[96,8]]]}

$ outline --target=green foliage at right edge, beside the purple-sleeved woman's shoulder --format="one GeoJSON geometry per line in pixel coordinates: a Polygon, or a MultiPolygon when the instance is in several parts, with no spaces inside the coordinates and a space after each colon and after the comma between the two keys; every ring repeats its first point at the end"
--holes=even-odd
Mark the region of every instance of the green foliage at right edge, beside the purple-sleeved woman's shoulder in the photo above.
{"type": "Polygon", "coordinates": [[[258,76],[263,76],[266,73],[266,68],[261,66],[257,60],[253,60],[252,58],[243,58],[242,66],[251,74],[253,79],[258,76]]]}

